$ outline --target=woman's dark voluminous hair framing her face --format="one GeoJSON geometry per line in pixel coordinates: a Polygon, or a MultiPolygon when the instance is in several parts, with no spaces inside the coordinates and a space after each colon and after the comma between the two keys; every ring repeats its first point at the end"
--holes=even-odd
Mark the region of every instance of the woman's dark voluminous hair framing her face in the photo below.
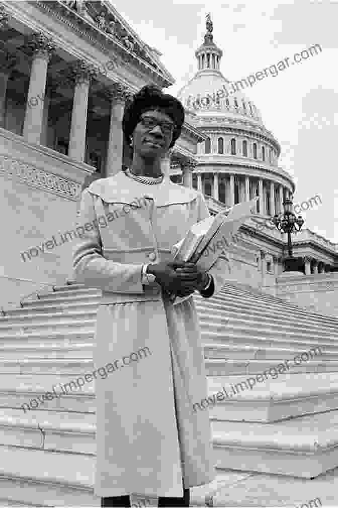
{"type": "Polygon", "coordinates": [[[139,122],[140,115],[145,111],[153,109],[164,110],[175,124],[172,141],[169,146],[171,148],[181,134],[184,122],[184,108],[175,97],[168,93],[163,93],[156,85],[143,86],[143,88],[134,94],[132,100],[126,103],[122,119],[123,134],[129,140],[136,124],[139,122]]]}

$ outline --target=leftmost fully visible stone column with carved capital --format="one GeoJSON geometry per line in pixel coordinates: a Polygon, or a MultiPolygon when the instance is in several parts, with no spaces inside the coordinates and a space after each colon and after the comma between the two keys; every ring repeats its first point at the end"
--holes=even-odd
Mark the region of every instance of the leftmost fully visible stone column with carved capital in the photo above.
{"type": "Polygon", "coordinates": [[[47,68],[55,46],[43,34],[33,34],[27,45],[33,50],[33,59],[22,135],[28,143],[40,145],[47,68]]]}

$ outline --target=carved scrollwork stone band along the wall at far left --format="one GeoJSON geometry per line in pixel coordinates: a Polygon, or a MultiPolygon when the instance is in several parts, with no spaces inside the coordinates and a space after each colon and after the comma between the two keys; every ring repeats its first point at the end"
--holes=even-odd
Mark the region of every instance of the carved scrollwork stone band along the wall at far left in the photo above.
{"type": "Polygon", "coordinates": [[[48,171],[24,164],[7,155],[0,155],[0,173],[18,179],[35,188],[76,201],[80,197],[81,184],[62,178],[48,171]]]}

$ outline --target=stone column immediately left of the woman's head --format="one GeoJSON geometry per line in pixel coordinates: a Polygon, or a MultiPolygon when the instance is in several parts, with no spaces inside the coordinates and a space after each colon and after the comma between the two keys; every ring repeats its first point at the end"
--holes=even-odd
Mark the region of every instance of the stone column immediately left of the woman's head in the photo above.
{"type": "MultiPolygon", "coordinates": [[[[116,175],[122,168],[123,156],[123,132],[122,132],[122,118],[125,107],[126,98],[129,95],[126,86],[120,83],[115,83],[108,91],[107,96],[110,100],[110,125],[109,125],[109,138],[107,160],[105,165],[105,176],[116,175]]],[[[170,155],[168,154],[165,159],[169,161],[170,171],[170,155]]],[[[167,171],[167,164],[164,159],[165,171],[167,171]]]]}

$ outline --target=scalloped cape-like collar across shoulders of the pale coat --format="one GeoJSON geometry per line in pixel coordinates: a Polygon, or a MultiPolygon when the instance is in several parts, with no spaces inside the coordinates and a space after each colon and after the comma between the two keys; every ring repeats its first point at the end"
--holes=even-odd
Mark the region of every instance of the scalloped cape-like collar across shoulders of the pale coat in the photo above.
{"type": "Polygon", "coordinates": [[[197,190],[173,183],[168,177],[162,183],[145,185],[129,178],[122,170],[114,176],[95,180],[87,190],[106,203],[131,203],[135,198],[148,197],[154,199],[156,206],[190,203],[199,195],[197,190]]]}

